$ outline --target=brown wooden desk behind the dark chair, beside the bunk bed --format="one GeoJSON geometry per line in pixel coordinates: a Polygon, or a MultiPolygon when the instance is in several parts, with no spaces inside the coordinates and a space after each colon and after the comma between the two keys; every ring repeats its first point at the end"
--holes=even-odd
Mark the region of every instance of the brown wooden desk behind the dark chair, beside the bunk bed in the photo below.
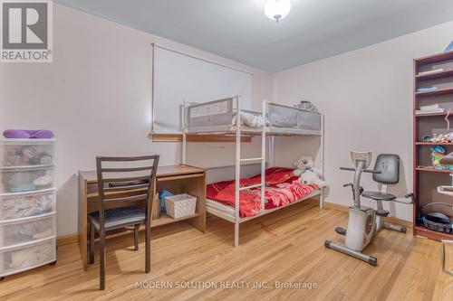
{"type": "MultiPolygon", "coordinates": [[[[162,213],[158,220],[151,221],[151,228],[177,221],[188,221],[193,227],[205,232],[206,228],[206,170],[189,165],[159,166],[154,185],[156,192],[166,189],[171,193],[189,193],[197,196],[197,208],[194,215],[173,219],[162,213]]],[[[88,214],[99,210],[98,179],[95,171],[79,171],[79,249],[81,250],[83,268],[88,268],[88,214]]],[[[129,191],[125,193],[138,193],[129,191]]],[[[128,202],[128,205],[134,202],[128,202]]],[[[136,204],[140,205],[140,202],[136,204]]],[[[106,208],[124,206],[124,203],[110,203],[106,208]]],[[[153,210],[154,210],[153,206],[153,210]]],[[[151,213],[152,215],[152,213],[151,213]]],[[[132,240],[130,240],[132,241],[132,240]]]]}

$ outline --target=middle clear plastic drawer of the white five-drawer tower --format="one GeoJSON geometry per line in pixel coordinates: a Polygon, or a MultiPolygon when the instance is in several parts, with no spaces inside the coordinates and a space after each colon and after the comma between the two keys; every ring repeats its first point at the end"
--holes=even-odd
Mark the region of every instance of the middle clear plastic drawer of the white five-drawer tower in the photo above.
{"type": "Polygon", "coordinates": [[[56,196],[52,188],[39,193],[0,195],[0,221],[38,216],[55,210],[56,196]]]}

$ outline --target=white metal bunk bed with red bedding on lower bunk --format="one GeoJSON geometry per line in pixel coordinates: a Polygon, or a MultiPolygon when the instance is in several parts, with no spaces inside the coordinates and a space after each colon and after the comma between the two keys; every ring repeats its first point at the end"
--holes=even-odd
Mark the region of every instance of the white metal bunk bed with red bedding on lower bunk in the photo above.
{"type": "MultiPolygon", "coordinates": [[[[186,164],[187,135],[218,134],[236,136],[236,172],[235,180],[227,182],[230,194],[234,201],[212,198],[209,196],[209,186],[207,192],[207,212],[216,215],[226,221],[235,224],[235,247],[239,245],[239,224],[244,221],[255,219],[270,212],[275,212],[288,205],[303,202],[306,199],[319,195],[319,206],[323,208],[323,190],[306,190],[301,187],[295,189],[304,190],[304,193],[293,193],[297,199],[284,202],[278,206],[269,206],[269,190],[273,189],[268,181],[269,169],[266,169],[266,138],[269,139],[269,158],[270,165],[274,165],[275,139],[274,136],[320,136],[321,137],[321,161],[323,169],[323,115],[318,112],[306,111],[299,108],[284,106],[280,104],[263,101],[262,111],[255,112],[241,109],[240,97],[228,99],[218,99],[200,104],[184,103],[182,114],[182,164],[186,164]],[[241,136],[261,136],[261,156],[255,158],[241,158],[241,136]],[[260,163],[261,173],[249,179],[241,179],[241,165],[246,163],[260,163]],[[244,193],[259,194],[259,202],[255,206],[255,212],[245,214],[242,212],[240,198],[244,193]],[[220,202],[219,202],[220,201],[220,202]],[[229,201],[229,202],[222,202],[229,201]]],[[[287,172],[287,171],[286,171],[287,172]]],[[[288,177],[287,177],[288,178],[288,177]]],[[[283,183],[291,182],[286,179],[283,183]]],[[[294,183],[297,186],[297,183],[294,183]]],[[[212,187],[211,187],[212,188],[212,187]]],[[[291,187],[294,189],[294,187],[291,187]]],[[[256,198],[255,198],[256,200],[256,198]]]]}

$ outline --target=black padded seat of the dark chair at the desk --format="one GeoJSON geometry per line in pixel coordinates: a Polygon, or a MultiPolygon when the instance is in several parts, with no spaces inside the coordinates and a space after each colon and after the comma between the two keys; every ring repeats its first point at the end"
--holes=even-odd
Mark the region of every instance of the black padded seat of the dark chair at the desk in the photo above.
{"type": "MultiPolygon", "coordinates": [[[[92,212],[90,219],[96,230],[101,228],[99,222],[99,212],[92,212]]],[[[146,215],[140,208],[136,207],[123,207],[113,208],[105,211],[105,229],[118,228],[120,226],[127,226],[137,224],[145,221],[146,215]]]]}

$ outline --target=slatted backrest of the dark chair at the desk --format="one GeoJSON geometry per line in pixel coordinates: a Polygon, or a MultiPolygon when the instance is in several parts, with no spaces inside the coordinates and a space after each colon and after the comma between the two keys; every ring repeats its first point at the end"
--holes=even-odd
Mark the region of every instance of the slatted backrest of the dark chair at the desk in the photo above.
{"type": "Polygon", "coordinates": [[[101,228],[106,202],[124,202],[127,207],[128,202],[144,201],[149,219],[158,165],[159,155],[96,156],[101,228]]]}

